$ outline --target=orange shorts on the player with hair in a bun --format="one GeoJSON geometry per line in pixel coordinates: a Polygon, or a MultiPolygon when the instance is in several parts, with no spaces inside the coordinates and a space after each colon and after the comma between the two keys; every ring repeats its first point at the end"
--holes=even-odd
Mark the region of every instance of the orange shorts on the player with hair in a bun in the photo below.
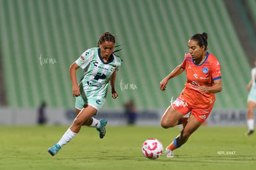
{"type": "Polygon", "coordinates": [[[203,123],[210,115],[210,112],[213,109],[213,104],[211,104],[209,108],[197,108],[189,105],[189,103],[179,95],[174,102],[171,101],[171,107],[182,113],[182,115],[187,115],[187,113],[191,112],[190,114],[194,115],[197,121],[203,123]]]}

